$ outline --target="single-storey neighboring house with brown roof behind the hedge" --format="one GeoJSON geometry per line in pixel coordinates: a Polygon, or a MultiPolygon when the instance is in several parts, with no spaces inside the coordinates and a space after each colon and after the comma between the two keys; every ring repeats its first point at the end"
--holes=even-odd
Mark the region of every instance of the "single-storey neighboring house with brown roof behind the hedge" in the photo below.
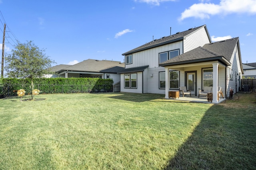
{"type": "Polygon", "coordinates": [[[66,67],[64,64],[60,64],[52,67],[51,69],[56,72],[54,77],[112,78],[115,83],[120,81],[120,75],[113,72],[116,67],[124,68],[124,63],[121,63],[120,61],[88,59],[74,65],[66,65],[66,67]],[[106,72],[106,69],[110,68],[113,69],[110,70],[110,72],[106,72]],[[103,72],[101,72],[101,70],[103,70],[103,72]]]}

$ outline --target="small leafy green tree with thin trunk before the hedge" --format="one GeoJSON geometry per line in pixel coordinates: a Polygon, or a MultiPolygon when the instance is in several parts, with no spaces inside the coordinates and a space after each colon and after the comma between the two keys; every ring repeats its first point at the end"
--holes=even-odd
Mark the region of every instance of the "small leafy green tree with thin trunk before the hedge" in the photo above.
{"type": "Polygon", "coordinates": [[[40,78],[49,74],[49,68],[55,63],[39,49],[32,41],[15,46],[11,54],[5,56],[6,76],[9,78],[30,78],[31,88],[34,90],[33,78],[40,78]]]}

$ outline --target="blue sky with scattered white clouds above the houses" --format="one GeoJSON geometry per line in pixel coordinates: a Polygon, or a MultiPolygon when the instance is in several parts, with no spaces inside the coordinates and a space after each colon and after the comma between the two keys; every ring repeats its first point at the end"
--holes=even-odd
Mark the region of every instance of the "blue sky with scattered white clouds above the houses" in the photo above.
{"type": "Polygon", "coordinates": [[[175,34],[204,24],[212,41],[239,37],[242,63],[256,63],[256,0],[0,0],[0,11],[6,53],[16,39],[33,41],[57,64],[123,62],[122,53],[170,27],[175,34]]]}

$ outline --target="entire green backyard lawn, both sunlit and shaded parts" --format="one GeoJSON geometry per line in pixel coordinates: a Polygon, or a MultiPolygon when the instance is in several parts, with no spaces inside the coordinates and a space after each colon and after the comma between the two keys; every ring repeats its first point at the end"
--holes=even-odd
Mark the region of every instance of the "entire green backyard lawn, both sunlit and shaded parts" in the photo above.
{"type": "Polygon", "coordinates": [[[160,94],[0,99],[0,169],[255,169],[256,94],[198,104],[160,94]]]}

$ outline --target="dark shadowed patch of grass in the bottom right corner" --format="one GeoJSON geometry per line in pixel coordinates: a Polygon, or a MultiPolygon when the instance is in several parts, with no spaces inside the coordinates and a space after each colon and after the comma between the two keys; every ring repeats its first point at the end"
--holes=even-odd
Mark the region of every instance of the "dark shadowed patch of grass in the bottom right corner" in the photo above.
{"type": "Polygon", "coordinates": [[[251,102],[251,107],[239,100],[210,107],[165,170],[255,169],[256,110],[251,102]]]}

